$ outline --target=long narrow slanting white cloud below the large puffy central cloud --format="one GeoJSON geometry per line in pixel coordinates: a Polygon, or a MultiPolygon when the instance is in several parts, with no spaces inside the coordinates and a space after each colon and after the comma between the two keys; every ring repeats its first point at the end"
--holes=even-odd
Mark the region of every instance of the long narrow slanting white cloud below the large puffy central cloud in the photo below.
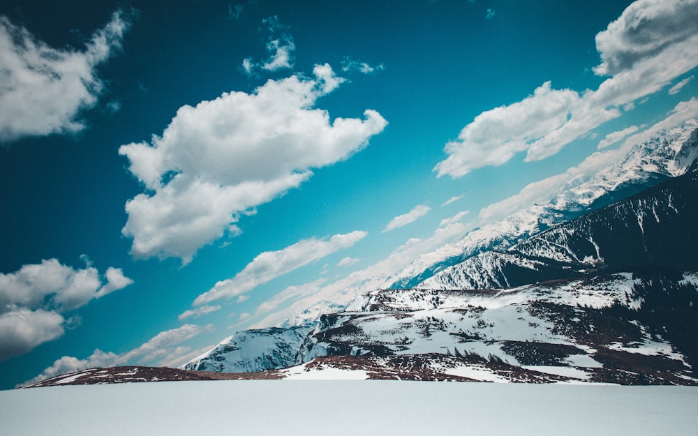
{"type": "Polygon", "coordinates": [[[206,304],[250,292],[274,278],[290,273],[337,250],[353,246],[364,237],[366,232],[355,231],[336,234],[329,240],[304,239],[282,250],[265,251],[255,257],[235,277],[216,283],[210,290],[198,296],[194,304],[206,304]]]}

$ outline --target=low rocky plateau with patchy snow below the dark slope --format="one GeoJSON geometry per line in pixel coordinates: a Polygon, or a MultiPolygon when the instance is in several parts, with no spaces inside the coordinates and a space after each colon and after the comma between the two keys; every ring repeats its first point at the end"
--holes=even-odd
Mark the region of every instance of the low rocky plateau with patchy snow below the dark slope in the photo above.
{"type": "Polygon", "coordinates": [[[695,346],[681,323],[655,313],[695,301],[698,274],[662,281],[663,303],[656,280],[617,273],[496,291],[376,291],[360,312],[324,315],[300,357],[375,378],[696,384],[695,346]]]}

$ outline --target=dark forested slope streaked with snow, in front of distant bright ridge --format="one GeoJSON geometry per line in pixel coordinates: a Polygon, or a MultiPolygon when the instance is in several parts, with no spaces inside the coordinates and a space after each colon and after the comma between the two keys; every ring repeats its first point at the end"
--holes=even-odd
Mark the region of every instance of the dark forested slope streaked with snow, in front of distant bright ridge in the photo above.
{"type": "Polygon", "coordinates": [[[521,241],[470,257],[420,287],[493,289],[646,267],[698,266],[698,172],[521,241]]]}

